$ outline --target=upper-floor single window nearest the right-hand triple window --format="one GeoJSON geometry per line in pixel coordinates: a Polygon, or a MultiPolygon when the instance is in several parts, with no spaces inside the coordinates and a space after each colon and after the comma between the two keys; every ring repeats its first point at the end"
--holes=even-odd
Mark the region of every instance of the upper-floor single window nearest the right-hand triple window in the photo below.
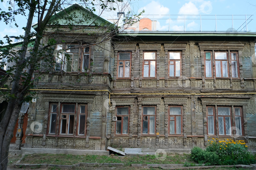
{"type": "Polygon", "coordinates": [[[169,77],[180,77],[180,52],[169,52],[169,77]]]}

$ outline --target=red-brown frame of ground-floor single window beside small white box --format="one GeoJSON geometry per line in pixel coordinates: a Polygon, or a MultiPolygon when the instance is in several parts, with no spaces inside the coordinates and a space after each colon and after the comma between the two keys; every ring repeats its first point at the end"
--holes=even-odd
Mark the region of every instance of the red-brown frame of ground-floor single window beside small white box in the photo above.
{"type": "Polygon", "coordinates": [[[115,135],[117,136],[128,136],[129,135],[129,119],[130,119],[130,106],[116,106],[115,109],[116,112],[116,117],[117,117],[117,121],[115,121],[115,135]],[[127,107],[128,109],[128,114],[127,115],[117,115],[117,109],[118,108],[125,108],[127,107]],[[127,133],[123,133],[123,122],[124,122],[124,117],[128,117],[128,122],[127,122],[127,133]],[[119,120],[121,119],[121,120],[119,120]],[[117,123],[121,122],[121,129],[120,129],[120,133],[116,133],[116,128],[117,128],[117,123]]]}

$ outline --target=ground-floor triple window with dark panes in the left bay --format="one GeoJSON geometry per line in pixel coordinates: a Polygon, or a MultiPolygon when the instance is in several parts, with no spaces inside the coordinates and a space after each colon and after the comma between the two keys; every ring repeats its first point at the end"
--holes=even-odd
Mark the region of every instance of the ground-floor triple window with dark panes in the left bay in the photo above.
{"type": "Polygon", "coordinates": [[[76,104],[61,104],[58,113],[58,104],[50,104],[49,130],[48,134],[56,134],[57,126],[60,135],[74,135],[75,120],[77,119],[76,135],[85,136],[86,134],[86,116],[87,105],[78,105],[78,114],[76,114],[76,104]],[[76,118],[77,115],[77,118],[76,118]],[[59,125],[56,124],[59,117],[59,125]]]}

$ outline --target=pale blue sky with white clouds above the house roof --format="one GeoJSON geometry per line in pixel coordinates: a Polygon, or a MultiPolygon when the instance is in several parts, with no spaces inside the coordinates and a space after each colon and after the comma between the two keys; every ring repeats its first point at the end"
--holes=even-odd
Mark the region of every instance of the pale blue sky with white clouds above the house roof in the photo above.
{"type": "MultiPolygon", "coordinates": [[[[2,10],[8,8],[5,2],[6,0],[3,3],[0,2],[2,10]]],[[[156,30],[159,31],[231,31],[233,15],[234,31],[246,31],[247,17],[249,18],[247,22],[253,19],[247,24],[247,31],[256,32],[255,0],[131,0],[130,8],[135,12],[141,12],[144,9],[143,17],[155,20],[156,30]]],[[[112,11],[109,13],[111,14],[107,15],[113,15],[112,11]]],[[[17,16],[16,20],[18,28],[0,21],[0,40],[4,40],[5,35],[24,34],[21,28],[26,26],[27,18],[17,16]]]]}

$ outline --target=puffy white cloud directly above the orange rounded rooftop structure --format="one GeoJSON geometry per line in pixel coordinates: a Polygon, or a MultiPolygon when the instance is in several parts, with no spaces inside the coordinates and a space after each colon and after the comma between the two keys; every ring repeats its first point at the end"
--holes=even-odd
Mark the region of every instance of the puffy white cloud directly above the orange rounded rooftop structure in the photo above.
{"type": "MultiPolygon", "coordinates": [[[[140,8],[139,11],[142,11],[143,9],[145,10],[145,12],[143,14],[144,17],[146,15],[167,15],[167,14],[169,14],[169,8],[164,7],[159,2],[156,2],[156,1],[151,1],[146,6],[140,8]]],[[[153,17],[149,16],[149,18],[153,18],[153,17]]]]}

